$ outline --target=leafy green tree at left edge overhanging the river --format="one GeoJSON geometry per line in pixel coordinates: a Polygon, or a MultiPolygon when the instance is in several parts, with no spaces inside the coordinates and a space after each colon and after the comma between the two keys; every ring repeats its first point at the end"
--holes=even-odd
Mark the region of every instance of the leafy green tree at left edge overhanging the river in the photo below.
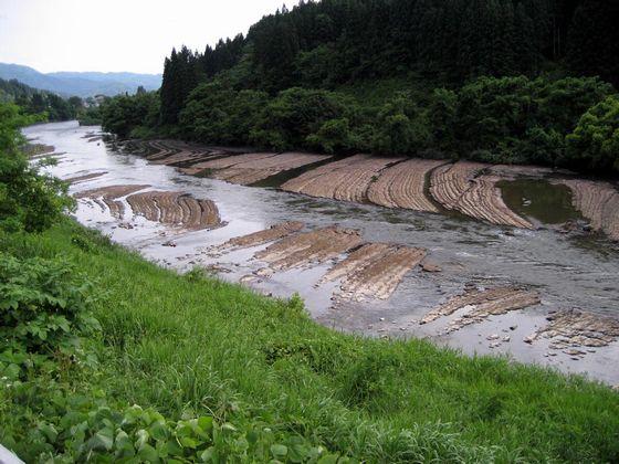
{"type": "Polygon", "coordinates": [[[66,184],[39,172],[19,151],[19,129],[35,119],[12,104],[0,104],[0,228],[41,231],[71,209],[66,184]]]}

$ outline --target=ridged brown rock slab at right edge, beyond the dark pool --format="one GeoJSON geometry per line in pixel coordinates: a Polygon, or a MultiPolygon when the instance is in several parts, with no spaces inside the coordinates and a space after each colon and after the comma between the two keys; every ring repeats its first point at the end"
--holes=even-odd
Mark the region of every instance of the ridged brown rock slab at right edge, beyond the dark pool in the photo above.
{"type": "Polygon", "coordinates": [[[591,228],[619,241],[619,191],[607,182],[583,179],[560,182],[571,189],[574,207],[591,221],[591,228]]]}

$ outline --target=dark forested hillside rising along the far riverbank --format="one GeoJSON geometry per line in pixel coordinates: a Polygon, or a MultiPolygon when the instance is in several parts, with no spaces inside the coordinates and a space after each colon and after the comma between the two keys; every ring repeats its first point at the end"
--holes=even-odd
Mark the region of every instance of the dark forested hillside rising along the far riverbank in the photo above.
{"type": "Polygon", "coordinates": [[[165,61],[120,136],[619,171],[619,3],[323,0],[165,61]],[[592,143],[587,143],[590,140],[592,143]]]}

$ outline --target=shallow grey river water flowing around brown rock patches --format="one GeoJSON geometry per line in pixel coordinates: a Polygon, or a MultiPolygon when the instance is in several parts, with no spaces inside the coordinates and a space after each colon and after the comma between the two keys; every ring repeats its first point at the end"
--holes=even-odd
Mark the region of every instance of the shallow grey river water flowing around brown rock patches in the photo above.
{"type": "MultiPolygon", "coordinates": [[[[105,176],[72,186],[71,191],[96,187],[148,183],[159,190],[183,191],[196,198],[213,200],[227,225],[212,231],[180,232],[134,218],[133,229],[119,228],[117,220],[93,204],[80,202],[75,217],[114,241],[139,250],[149,260],[185,271],[195,265],[224,266],[231,272],[221,278],[238,282],[262,265],[251,257],[259,249],[207,259],[200,251],[225,240],[290,220],[308,228],[332,225],[359,229],[367,241],[395,242],[428,250],[429,259],[442,272],[410,272],[386,302],[369,302],[332,307],[335,284],[314,286],[328,266],[276,273],[272,278],[251,284],[258,291],[290,297],[298,293],[312,316],[335,329],[381,337],[428,337],[466,354],[504,355],[523,362],[553,366],[562,371],[587,373],[609,383],[619,383],[619,344],[588,352],[574,360],[558,354],[548,356],[547,342],[525,344],[523,338],[545,325],[548,312],[580,308],[619,317],[619,251],[604,238],[564,235],[550,229],[536,231],[495,226],[466,218],[376,205],[314,199],[179,173],[175,168],[148,164],[138,156],[115,152],[101,140],[84,136],[98,127],[78,127],[75,122],[46,124],[24,130],[35,143],[52,145],[56,166],[49,168],[61,178],[93,171],[105,176]],[[176,246],[162,246],[174,241],[176,246]],[[490,318],[449,336],[440,335],[451,320],[417,324],[429,309],[462,293],[466,284],[478,286],[524,285],[542,295],[542,304],[524,310],[490,318]],[[507,327],[511,327],[508,329],[507,327]],[[487,338],[500,335],[508,341],[492,347],[487,338]]],[[[517,186],[516,186],[517,187],[517,186]]],[[[506,196],[517,197],[508,188],[506,196]]],[[[510,201],[506,198],[506,201],[510,201]]],[[[513,201],[513,199],[512,199],[513,201]]],[[[565,203],[565,200],[562,199],[565,203]]],[[[552,221],[549,221],[552,222],[552,221]]]]}

